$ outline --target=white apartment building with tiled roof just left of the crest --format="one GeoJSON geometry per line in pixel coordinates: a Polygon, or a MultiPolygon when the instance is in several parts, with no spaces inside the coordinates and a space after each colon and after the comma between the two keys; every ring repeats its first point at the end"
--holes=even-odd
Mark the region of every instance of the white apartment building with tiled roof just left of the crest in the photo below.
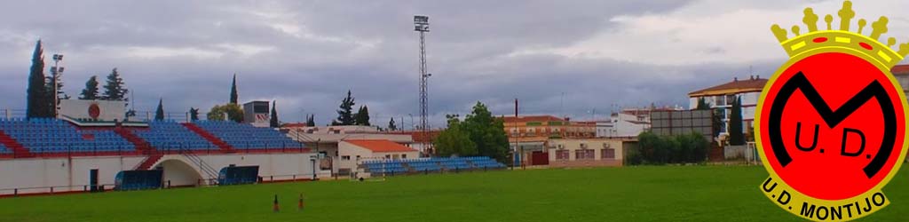
{"type": "Polygon", "coordinates": [[[761,78],[761,76],[750,76],[743,80],[735,77],[732,82],[688,93],[689,108],[697,108],[700,98],[704,98],[711,108],[719,108],[720,116],[723,116],[720,135],[728,135],[727,128],[729,127],[729,115],[732,112],[732,102],[738,96],[742,100],[742,126],[744,127],[742,132],[748,132],[749,128],[754,126],[754,109],[757,107],[757,100],[761,97],[761,91],[764,90],[766,84],[767,79],[761,78]]]}

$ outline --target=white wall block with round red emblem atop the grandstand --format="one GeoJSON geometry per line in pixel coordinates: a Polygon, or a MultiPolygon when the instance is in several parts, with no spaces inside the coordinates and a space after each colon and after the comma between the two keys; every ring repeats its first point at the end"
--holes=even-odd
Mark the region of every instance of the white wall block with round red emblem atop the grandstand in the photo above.
{"type": "Polygon", "coordinates": [[[70,118],[123,121],[126,118],[126,102],[64,99],[60,100],[59,114],[70,118]]]}

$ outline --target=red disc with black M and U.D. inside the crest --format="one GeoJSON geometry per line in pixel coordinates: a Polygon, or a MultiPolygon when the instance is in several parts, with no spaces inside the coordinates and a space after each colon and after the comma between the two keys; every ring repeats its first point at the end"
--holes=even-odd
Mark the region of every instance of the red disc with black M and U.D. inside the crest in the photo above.
{"type": "MultiPolygon", "coordinates": [[[[844,53],[810,55],[776,76],[759,110],[765,164],[818,199],[856,197],[903,152],[900,94],[887,73],[844,53]]],[[[765,89],[766,90],[766,89],[765,89]]]]}

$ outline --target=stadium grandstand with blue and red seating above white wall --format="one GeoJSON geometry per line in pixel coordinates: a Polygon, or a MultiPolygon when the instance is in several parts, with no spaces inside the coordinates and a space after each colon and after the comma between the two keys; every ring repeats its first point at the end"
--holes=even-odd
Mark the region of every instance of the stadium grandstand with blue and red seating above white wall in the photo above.
{"type": "Polygon", "coordinates": [[[119,101],[67,100],[60,118],[0,118],[0,196],[330,177],[275,128],[136,121],[119,101]],[[99,115],[104,114],[104,115],[99,115]],[[128,123],[128,124],[125,124],[128,123]]]}

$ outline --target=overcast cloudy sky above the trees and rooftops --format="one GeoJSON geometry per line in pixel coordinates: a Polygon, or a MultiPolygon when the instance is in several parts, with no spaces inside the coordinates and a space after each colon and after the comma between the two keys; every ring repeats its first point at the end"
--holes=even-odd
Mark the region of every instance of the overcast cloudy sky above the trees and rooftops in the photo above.
{"type": "MultiPolygon", "coordinates": [[[[352,90],[373,123],[416,115],[418,35],[429,15],[430,112],[603,118],[617,107],[687,106],[687,92],[770,76],[786,56],[770,25],[801,25],[802,10],[842,1],[5,1],[0,7],[0,108],[24,109],[37,39],[65,54],[65,91],[117,67],[135,107],[203,112],[228,99],[277,100],[285,122],[324,125],[352,90]]],[[[856,18],[890,16],[909,40],[900,0],[854,3],[856,18]]],[[[834,22],[834,24],[838,24],[834,22]]],[[[803,28],[804,30],[804,28],[803,28]]],[[[867,31],[866,31],[867,32],[867,31]]]]}

